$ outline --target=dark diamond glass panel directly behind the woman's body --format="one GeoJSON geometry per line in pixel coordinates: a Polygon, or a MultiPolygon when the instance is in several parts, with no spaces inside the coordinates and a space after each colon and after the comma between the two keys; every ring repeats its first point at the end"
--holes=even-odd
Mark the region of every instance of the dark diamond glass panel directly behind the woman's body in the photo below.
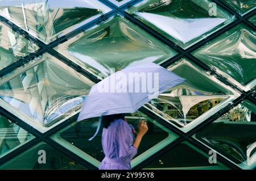
{"type": "MultiPolygon", "coordinates": [[[[132,167],[147,159],[150,155],[156,153],[156,151],[170,144],[170,142],[178,137],[175,133],[172,133],[142,112],[137,111],[127,114],[126,118],[128,123],[134,125],[135,128],[137,128],[139,119],[146,119],[148,124],[148,132],[143,137],[138,153],[131,162],[132,167]]],[[[76,116],[71,119],[76,120],[76,116]]],[[[89,161],[95,166],[100,166],[100,162],[104,158],[104,152],[101,146],[102,128],[92,141],[88,141],[95,133],[97,125],[98,118],[75,122],[59,133],[56,133],[52,138],[56,142],[59,142],[59,144],[65,146],[65,148],[72,149],[74,153],[81,158],[85,158],[86,161],[89,161]]]]}

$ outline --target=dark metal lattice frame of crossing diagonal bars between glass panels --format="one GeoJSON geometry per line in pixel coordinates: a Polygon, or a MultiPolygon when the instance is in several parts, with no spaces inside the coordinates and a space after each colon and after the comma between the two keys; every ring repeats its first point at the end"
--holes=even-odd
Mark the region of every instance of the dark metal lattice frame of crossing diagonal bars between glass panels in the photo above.
{"type": "MultiPolygon", "coordinates": [[[[236,100],[233,101],[233,104],[229,104],[224,109],[222,109],[222,110],[218,111],[217,113],[215,113],[214,115],[210,116],[207,120],[205,120],[200,125],[197,125],[197,127],[193,128],[188,133],[182,132],[180,129],[174,127],[171,124],[168,124],[162,118],[154,115],[154,113],[152,113],[152,112],[146,110],[146,108],[142,107],[141,111],[143,113],[146,113],[146,115],[152,117],[153,119],[158,121],[160,124],[163,124],[165,127],[170,129],[172,132],[176,133],[180,137],[177,138],[177,140],[175,140],[171,144],[164,147],[163,149],[159,150],[157,153],[155,153],[154,155],[152,155],[151,157],[149,157],[145,161],[139,163],[139,165],[135,166],[134,169],[143,169],[143,167],[146,166],[148,163],[151,163],[152,161],[159,158],[164,153],[167,153],[167,151],[170,151],[172,148],[179,145],[183,141],[191,142],[191,144],[195,145],[197,148],[199,148],[200,150],[202,150],[202,151],[204,151],[205,153],[208,154],[209,149],[206,146],[204,146],[203,144],[201,144],[199,141],[195,140],[195,138],[192,137],[193,134],[200,131],[201,129],[203,129],[204,127],[206,127],[210,123],[212,123],[214,120],[216,120],[218,117],[224,115],[226,112],[230,111],[234,106],[237,106],[238,104],[240,104],[245,99],[248,99],[248,100],[250,100],[250,102],[256,104],[256,99],[253,96],[253,94],[255,92],[255,87],[253,89],[251,89],[250,91],[248,91],[248,92],[245,92],[245,91],[239,89],[236,85],[233,85],[233,83],[229,82],[222,75],[216,73],[216,71],[214,69],[211,69],[208,65],[204,64],[203,62],[201,62],[199,59],[192,56],[192,54],[191,54],[197,48],[203,46],[204,44],[208,43],[210,40],[215,39],[216,37],[220,36],[222,33],[230,30],[231,28],[237,26],[240,23],[246,24],[253,31],[255,31],[256,27],[254,26],[253,23],[251,23],[248,20],[251,16],[255,15],[255,11],[251,11],[251,12],[245,14],[244,16],[241,16],[236,11],[231,9],[229,6],[225,5],[225,3],[222,3],[220,0],[212,0],[218,6],[220,6],[222,9],[224,9],[225,11],[229,12],[230,14],[236,16],[237,19],[234,20],[234,22],[232,22],[232,23],[226,25],[225,27],[221,28],[217,32],[212,33],[212,35],[208,36],[207,38],[199,41],[198,43],[196,43],[192,47],[184,50],[183,48],[177,46],[175,43],[173,43],[172,41],[170,41],[169,39],[167,39],[163,35],[160,35],[160,33],[156,32],[151,27],[148,27],[146,24],[142,23],[137,18],[135,18],[133,15],[130,15],[125,11],[129,7],[133,6],[136,3],[141,2],[142,0],[133,0],[133,1],[127,2],[126,4],[124,4],[120,7],[114,5],[112,2],[110,2],[108,0],[98,0],[98,1],[104,3],[106,6],[109,6],[113,10],[108,12],[105,15],[100,16],[97,19],[92,20],[89,23],[84,24],[84,26],[81,26],[80,28],[77,28],[76,30],[68,33],[65,36],[60,37],[59,39],[57,39],[55,41],[52,41],[49,44],[44,44],[42,41],[40,41],[36,37],[30,35],[30,33],[22,30],[21,28],[16,26],[14,23],[12,23],[9,20],[7,20],[6,18],[3,18],[2,16],[0,16],[0,22],[5,23],[7,26],[11,27],[14,31],[18,32],[20,35],[23,35],[24,37],[26,37],[27,39],[32,41],[32,43],[35,43],[39,46],[39,49],[36,50],[35,52],[33,52],[31,54],[28,54],[28,56],[26,56],[26,57],[20,58],[20,60],[14,62],[13,64],[11,64],[9,66],[7,66],[5,69],[0,70],[0,77],[3,77],[4,75],[10,73],[11,71],[15,70],[16,68],[18,68],[18,67],[26,64],[27,62],[33,60],[35,57],[38,57],[38,56],[42,55],[43,53],[48,52],[52,56],[55,56],[59,60],[63,61],[65,64],[71,66],[76,71],[79,71],[85,77],[88,77],[89,79],[91,79],[92,81],[97,83],[99,80],[96,77],[94,77],[88,71],[86,71],[85,69],[82,69],[80,66],[76,65],[71,60],[69,60],[68,58],[61,55],[60,53],[56,52],[56,50],[54,50],[53,48],[56,47],[57,45],[61,44],[61,43],[64,43],[69,38],[77,35],[77,33],[80,33],[81,31],[85,31],[88,28],[90,28],[90,27],[92,27],[96,24],[104,22],[106,19],[108,19],[108,18],[110,18],[110,17],[112,17],[116,14],[121,14],[126,19],[130,20],[131,22],[133,22],[137,26],[141,27],[144,31],[148,32],[150,35],[156,37],[156,39],[158,39],[159,41],[162,41],[164,44],[168,45],[169,47],[171,47],[172,49],[174,49],[178,52],[178,54],[176,56],[174,56],[174,57],[170,58],[169,60],[167,60],[166,62],[164,62],[162,64],[163,67],[167,68],[168,66],[170,66],[174,62],[180,60],[180,58],[186,57],[186,58],[188,58],[188,60],[191,60],[193,63],[198,65],[203,70],[208,71],[212,75],[215,75],[216,78],[219,79],[221,82],[225,83],[226,85],[228,85],[228,86],[232,87],[233,89],[236,89],[236,90],[238,90],[242,93],[239,98],[237,98],[236,100]]],[[[67,127],[69,124],[73,123],[75,121],[75,119],[74,120],[68,119],[67,121],[64,121],[63,123],[61,123],[59,125],[56,125],[56,127],[53,127],[51,130],[47,131],[46,133],[40,133],[39,131],[32,128],[27,123],[24,123],[18,117],[16,117],[15,115],[13,115],[12,113],[10,113],[9,111],[5,110],[2,107],[0,107],[0,115],[5,116],[7,119],[13,121],[13,123],[19,125],[19,127],[23,128],[24,130],[33,134],[36,137],[33,140],[27,142],[26,144],[20,146],[19,148],[11,151],[9,154],[6,154],[4,157],[2,157],[0,159],[0,165],[3,165],[7,161],[9,161],[11,158],[16,157],[17,155],[23,153],[25,150],[27,150],[27,149],[31,148],[32,146],[38,144],[39,142],[43,141],[43,142],[46,142],[48,145],[52,146],[53,148],[55,148],[56,150],[61,151],[61,153],[64,153],[69,158],[72,158],[74,161],[79,163],[81,166],[84,166],[87,169],[97,169],[97,167],[93,166],[91,163],[85,161],[84,159],[81,159],[78,155],[72,153],[71,150],[64,148],[62,145],[58,144],[57,142],[55,142],[51,138],[49,138],[50,136],[52,136],[56,132],[60,131],[61,129],[67,127]]],[[[75,117],[76,116],[77,115],[75,115],[75,117]]],[[[234,163],[225,159],[225,157],[223,157],[222,155],[218,155],[218,161],[224,163],[225,166],[228,166],[231,169],[241,169],[237,165],[234,165],[234,163]]]]}

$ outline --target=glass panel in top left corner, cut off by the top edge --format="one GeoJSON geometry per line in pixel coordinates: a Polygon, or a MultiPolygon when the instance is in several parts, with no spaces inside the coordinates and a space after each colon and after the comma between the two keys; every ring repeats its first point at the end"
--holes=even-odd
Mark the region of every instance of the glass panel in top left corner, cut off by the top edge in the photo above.
{"type": "Polygon", "coordinates": [[[90,0],[3,0],[0,15],[45,43],[50,43],[110,9],[90,0]]]}

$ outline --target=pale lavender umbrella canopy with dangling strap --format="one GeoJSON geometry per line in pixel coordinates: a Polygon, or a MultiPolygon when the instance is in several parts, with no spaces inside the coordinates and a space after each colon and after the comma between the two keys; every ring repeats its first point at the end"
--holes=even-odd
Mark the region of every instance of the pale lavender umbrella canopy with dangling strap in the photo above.
{"type": "Polygon", "coordinates": [[[133,113],[161,92],[184,81],[154,63],[129,66],[92,87],[77,121],[102,115],[133,113]]]}

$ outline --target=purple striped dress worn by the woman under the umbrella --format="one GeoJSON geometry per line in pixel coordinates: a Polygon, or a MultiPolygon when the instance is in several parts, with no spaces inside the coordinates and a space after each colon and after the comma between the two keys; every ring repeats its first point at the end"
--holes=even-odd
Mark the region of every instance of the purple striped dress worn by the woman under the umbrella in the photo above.
{"type": "Polygon", "coordinates": [[[130,170],[131,159],[137,154],[134,139],[132,128],[122,119],[114,120],[108,128],[103,128],[101,142],[105,158],[100,170],[130,170]]]}

